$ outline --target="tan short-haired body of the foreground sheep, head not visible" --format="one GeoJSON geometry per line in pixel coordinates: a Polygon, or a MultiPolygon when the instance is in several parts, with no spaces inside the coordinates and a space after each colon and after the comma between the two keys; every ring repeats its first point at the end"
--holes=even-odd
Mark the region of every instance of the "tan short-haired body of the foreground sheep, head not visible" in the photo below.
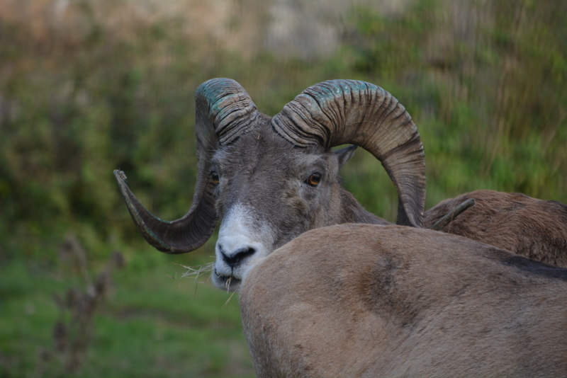
{"type": "Polygon", "coordinates": [[[567,374],[567,270],[429,229],[305,232],[249,269],[240,312],[258,377],[567,374]]]}

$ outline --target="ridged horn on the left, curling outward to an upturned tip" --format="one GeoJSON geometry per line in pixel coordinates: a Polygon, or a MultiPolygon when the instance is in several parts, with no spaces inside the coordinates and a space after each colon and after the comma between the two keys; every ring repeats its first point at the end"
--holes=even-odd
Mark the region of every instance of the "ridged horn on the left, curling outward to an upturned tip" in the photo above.
{"type": "Polygon", "coordinates": [[[254,127],[260,115],[248,93],[231,79],[211,79],[195,93],[197,182],[193,204],[184,217],[167,222],[142,206],[125,183],[122,171],[114,176],[128,211],[148,243],[165,253],[187,253],[205,244],[216,227],[218,215],[214,183],[208,175],[210,159],[219,146],[234,142],[254,127]]]}

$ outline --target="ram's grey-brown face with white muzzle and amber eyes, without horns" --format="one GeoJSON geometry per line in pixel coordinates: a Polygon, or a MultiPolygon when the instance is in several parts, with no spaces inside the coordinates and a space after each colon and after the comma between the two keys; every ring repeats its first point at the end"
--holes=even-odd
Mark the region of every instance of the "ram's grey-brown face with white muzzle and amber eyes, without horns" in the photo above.
{"type": "Polygon", "coordinates": [[[298,149],[265,125],[219,149],[210,166],[222,219],[215,285],[237,290],[254,261],[309,229],[337,223],[344,192],[339,168],[355,148],[298,149]]]}

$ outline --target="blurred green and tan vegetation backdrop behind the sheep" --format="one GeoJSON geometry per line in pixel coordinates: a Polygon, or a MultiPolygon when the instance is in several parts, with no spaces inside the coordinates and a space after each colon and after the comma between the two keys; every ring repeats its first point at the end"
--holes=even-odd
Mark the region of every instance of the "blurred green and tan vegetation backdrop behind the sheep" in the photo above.
{"type": "MultiPolygon", "coordinates": [[[[268,115],[327,79],[382,86],[422,135],[427,208],[479,188],[567,203],[566,16],[555,0],[0,0],[0,377],[254,376],[237,296],[180,278],[215,237],[153,250],[112,175],[185,214],[193,93],[213,77],[268,115]]],[[[374,158],[342,174],[395,220],[374,158]]]]}

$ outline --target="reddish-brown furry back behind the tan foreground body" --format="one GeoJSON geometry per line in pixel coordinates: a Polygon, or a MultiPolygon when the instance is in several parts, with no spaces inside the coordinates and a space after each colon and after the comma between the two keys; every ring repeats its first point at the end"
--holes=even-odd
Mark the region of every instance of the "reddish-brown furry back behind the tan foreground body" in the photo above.
{"type": "Polygon", "coordinates": [[[474,198],[476,205],[443,229],[522,256],[567,268],[567,206],[520,193],[476,190],[444,200],[425,213],[430,227],[459,203],[474,198]]]}

